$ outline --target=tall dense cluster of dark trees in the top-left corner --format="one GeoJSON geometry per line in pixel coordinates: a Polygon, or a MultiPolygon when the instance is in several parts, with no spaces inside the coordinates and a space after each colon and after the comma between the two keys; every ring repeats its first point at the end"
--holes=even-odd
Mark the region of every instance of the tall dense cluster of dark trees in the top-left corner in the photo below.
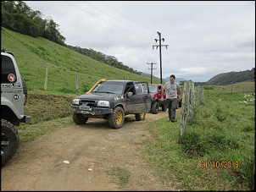
{"type": "Polygon", "coordinates": [[[22,1],[3,1],[1,7],[2,26],[8,30],[65,45],[65,37],[58,30],[53,19],[42,19],[40,11],[33,11],[22,1]]]}

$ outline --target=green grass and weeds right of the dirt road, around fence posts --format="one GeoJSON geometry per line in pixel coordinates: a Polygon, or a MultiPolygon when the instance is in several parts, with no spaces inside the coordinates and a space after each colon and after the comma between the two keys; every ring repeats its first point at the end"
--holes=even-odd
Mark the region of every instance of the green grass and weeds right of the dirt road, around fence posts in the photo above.
{"type": "Polygon", "coordinates": [[[177,190],[251,190],[255,101],[243,101],[255,99],[255,92],[231,94],[213,89],[204,93],[203,104],[196,107],[183,138],[179,123],[170,124],[167,118],[149,125],[155,140],[143,145],[144,156],[177,190]]]}

